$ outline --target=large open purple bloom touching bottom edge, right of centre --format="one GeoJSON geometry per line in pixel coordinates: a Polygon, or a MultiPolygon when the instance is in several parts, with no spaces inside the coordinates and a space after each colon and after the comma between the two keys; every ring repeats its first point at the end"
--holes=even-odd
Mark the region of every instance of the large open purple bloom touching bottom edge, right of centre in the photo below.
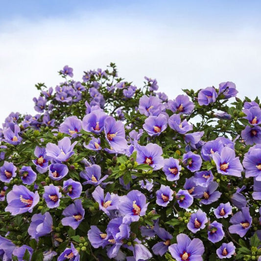
{"type": "Polygon", "coordinates": [[[177,243],[168,247],[171,256],[176,261],[203,261],[202,255],[205,251],[202,241],[198,238],[190,239],[185,234],[177,236],[177,243]]]}

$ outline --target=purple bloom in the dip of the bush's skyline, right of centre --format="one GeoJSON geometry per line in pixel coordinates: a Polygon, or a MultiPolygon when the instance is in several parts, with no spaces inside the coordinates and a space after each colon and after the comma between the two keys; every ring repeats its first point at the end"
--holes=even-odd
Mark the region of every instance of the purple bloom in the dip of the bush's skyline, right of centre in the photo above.
{"type": "Polygon", "coordinates": [[[174,100],[169,100],[167,105],[172,112],[188,115],[192,113],[195,107],[194,103],[190,101],[190,98],[187,95],[178,95],[174,100]]]}

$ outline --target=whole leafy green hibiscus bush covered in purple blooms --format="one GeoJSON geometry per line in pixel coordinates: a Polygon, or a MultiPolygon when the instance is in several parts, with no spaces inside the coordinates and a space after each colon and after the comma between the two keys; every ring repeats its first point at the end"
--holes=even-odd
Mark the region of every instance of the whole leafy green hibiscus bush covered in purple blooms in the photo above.
{"type": "Polygon", "coordinates": [[[0,131],[2,260],[261,259],[258,98],[59,74],[0,131]]]}

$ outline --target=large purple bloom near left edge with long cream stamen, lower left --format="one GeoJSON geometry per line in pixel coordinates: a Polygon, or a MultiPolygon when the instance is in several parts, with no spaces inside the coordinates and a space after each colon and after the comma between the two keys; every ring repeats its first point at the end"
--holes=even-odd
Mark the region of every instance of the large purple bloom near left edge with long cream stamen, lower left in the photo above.
{"type": "Polygon", "coordinates": [[[14,185],[13,189],[6,195],[8,205],[5,211],[10,212],[11,215],[23,214],[27,211],[32,213],[39,199],[37,191],[33,193],[23,185],[14,185]]]}

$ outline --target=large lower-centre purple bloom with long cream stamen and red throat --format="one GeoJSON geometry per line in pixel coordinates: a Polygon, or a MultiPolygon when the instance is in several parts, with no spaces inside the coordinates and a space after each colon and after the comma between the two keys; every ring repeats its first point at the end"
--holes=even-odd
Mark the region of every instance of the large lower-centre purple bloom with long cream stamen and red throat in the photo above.
{"type": "Polygon", "coordinates": [[[123,223],[138,221],[140,216],[146,214],[146,196],[139,190],[131,190],[127,195],[120,198],[119,211],[123,215],[123,223]]]}

